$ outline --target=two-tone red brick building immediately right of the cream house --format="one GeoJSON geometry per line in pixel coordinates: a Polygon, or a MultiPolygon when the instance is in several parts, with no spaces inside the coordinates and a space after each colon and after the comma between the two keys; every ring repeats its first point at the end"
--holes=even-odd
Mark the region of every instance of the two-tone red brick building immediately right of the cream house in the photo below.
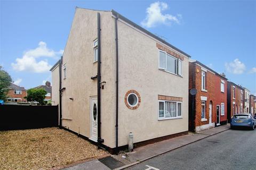
{"type": "Polygon", "coordinates": [[[189,62],[189,130],[199,132],[227,123],[227,78],[198,62],[189,62]]]}

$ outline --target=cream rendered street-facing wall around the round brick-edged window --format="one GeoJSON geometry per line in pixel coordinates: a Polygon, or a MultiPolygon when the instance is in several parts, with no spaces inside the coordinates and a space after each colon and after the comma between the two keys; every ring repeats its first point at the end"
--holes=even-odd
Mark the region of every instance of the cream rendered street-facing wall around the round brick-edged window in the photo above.
{"type": "MultiPolygon", "coordinates": [[[[188,131],[188,58],[183,61],[183,78],[158,70],[156,41],[118,22],[119,45],[119,146],[188,131]],[[131,110],[124,103],[129,90],[141,97],[140,106],[131,110]],[[158,121],[158,95],[182,97],[182,118],[158,121]]],[[[175,50],[174,50],[175,51],[175,50]]]]}

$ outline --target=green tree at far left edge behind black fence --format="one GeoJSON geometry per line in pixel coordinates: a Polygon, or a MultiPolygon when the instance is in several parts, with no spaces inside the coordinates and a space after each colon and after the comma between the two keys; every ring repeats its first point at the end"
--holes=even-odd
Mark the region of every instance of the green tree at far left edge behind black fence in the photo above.
{"type": "Polygon", "coordinates": [[[12,78],[6,71],[3,70],[3,67],[0,65],[0,100],[7,99],[7,92],[9,91],[9,86],[12,82],[12,78]]]}

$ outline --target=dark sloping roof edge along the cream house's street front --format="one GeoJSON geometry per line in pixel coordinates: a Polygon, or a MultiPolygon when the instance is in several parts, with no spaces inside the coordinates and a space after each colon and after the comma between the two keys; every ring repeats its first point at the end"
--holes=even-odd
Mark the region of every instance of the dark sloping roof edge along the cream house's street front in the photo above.
{"type": "Polygon", "coordinates": [[[149,32],[148,30],[142,28],[140,25],[138,25],[138,24],[132,22],[131,20],[125,18],[123,15],[119,14],[119,13],[116,12],[115,10],[111,10],[111,12],[112,12],[112,14],[113,14],[114,16],[116,16],[116,18],[120,18],[120,19],[124,20],[125,22],[131,24],[134,28],[137,28],[137,29],[141,30],[142,32],[145,32],[147,35],[149,35],[149,36],[151,36],[151,37],[157,39],[158,41],[161,41],[161,43],[163,43],[163,44],[165,44],[165,45],[167,45],[167,46],[170,46],[171,48],[177,50],[177,52],[179,52],[179,53],[181,53],[181,54],[183,54],[183,55],[185,55],[185,56],[191,58],[191,56],[188,55],[187,53],[183,52],[182,50],[180,50],[180,49],[177,48],[177,47],[174,47],[173,45],[171,45],[171,44],[168,43],[167,41],[163,40],[162,38],[157,37],[156,35],[154,35],[154,33],[149,32]]]}

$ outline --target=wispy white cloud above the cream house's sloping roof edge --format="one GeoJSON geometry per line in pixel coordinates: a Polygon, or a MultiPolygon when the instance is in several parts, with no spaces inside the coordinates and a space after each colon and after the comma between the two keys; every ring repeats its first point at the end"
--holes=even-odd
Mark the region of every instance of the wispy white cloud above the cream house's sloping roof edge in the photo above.
{"type": "Polygon", "coordinates": [[[180,19],[182,18],[181,14],[177,16],[173,16],[171,14],[162,14],[162,11],[166,10],[168,5],[164,2],[155,2],[150,4],[147,8],[147,16],[141,22],[143,27],[155,27],[157,24],[166,24],[170,25],[172,22],[180,23],[180,19]]]}

